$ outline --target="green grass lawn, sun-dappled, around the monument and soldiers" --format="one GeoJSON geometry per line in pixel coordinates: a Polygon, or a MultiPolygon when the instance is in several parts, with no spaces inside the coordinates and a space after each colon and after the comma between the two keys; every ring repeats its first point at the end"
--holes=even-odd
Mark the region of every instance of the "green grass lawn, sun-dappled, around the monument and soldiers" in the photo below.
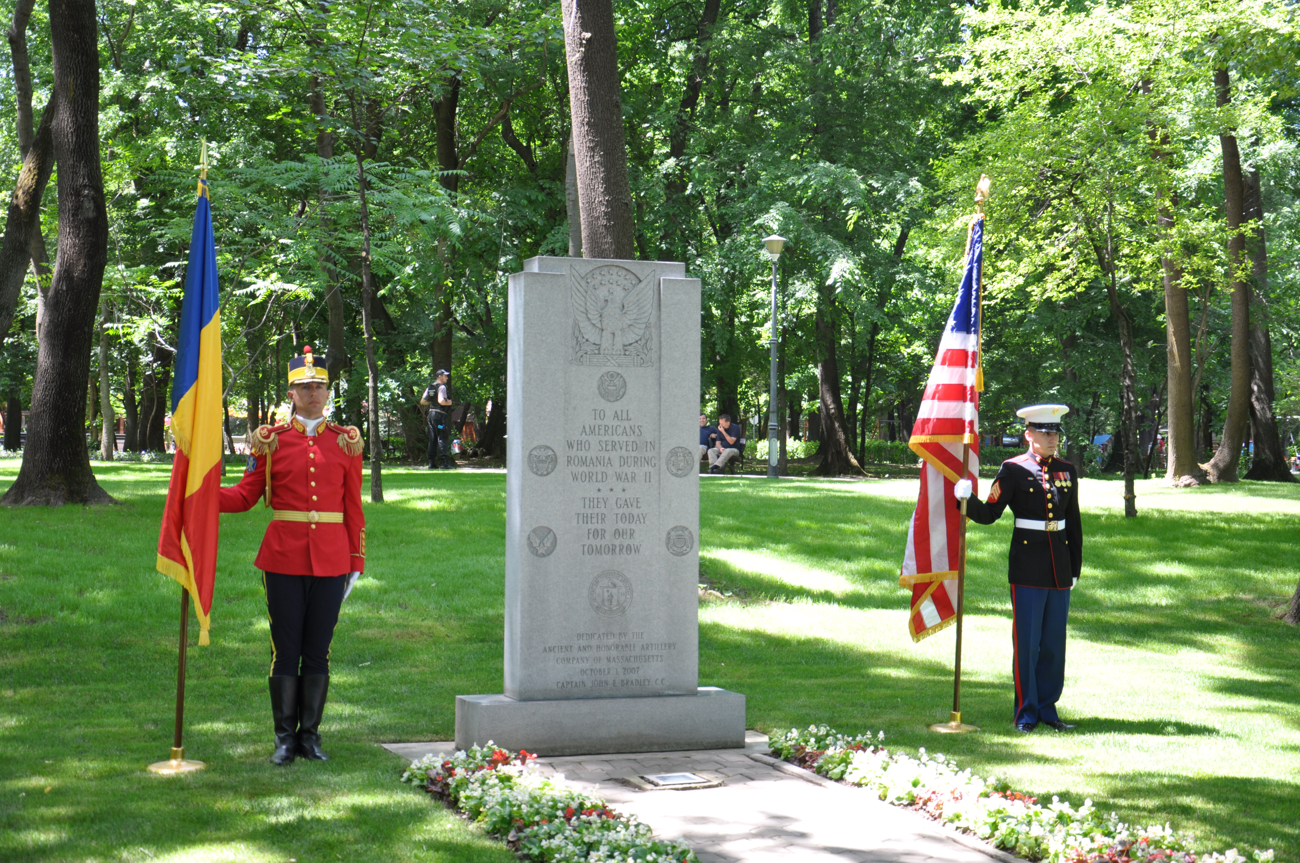
{"type": "MultiPolygon", "coordinates": [[[[0,461],[0,487],[17,467],[0,461]]],[[[161,779],[143,768],[170,746],[168,468],[96,473],[121,506],[0,511],[0,859],[514,859],[398,785],[376,746],[448,738],[458,693],[500,691],[502,474],[385,470],[334,639],[325,764],[265,760],[268,516],[225,516],[212,646],[190,651],[186,747],[208,769],[161,779]]],[[[1118,483],[1083,485],[1069,736],[1010,728],[1010,525],[972,526],[963,717],[984,730],[961,738],[926,732],[948,716],[952,630],[913,645],[897,586],[915,480],[702,486],[701,684],[749,695],[750,727],[883,729],[1031,793],[1300,858],[1300,632],[1275,619],[1300,576],[1300,486],[1139,483],[1126,521],[1118,483]]]]}

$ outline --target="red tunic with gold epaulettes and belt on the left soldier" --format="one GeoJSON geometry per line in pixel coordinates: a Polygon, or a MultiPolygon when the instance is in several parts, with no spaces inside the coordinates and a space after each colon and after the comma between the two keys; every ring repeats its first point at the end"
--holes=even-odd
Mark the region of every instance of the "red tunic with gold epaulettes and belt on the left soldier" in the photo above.
{"type": "MultiPolygon", "coordinates": [[[[334,521],[272,520],[254,561],[286,576],[342,576],[365,571],[361,512],[361,435],[351,426],[321,422],[308,437],[296,420],[252,435],[254,461],[239,485],[221,490],[222,512],[246,512],[266,495],[269,506],[295,513],[343,513],[334,521]]],[[[304,516],[309,519],[308,516],[304,516]]]]}

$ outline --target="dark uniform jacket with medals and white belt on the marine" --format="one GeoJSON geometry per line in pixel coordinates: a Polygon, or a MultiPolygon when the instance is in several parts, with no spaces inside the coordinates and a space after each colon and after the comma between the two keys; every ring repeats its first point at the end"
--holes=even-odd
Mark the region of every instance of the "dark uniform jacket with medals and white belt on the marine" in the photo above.
{"type": "MultiPolygon", "coordinates": [[[[961,502],[958,500],[958,507],[961,502]]],[[[1008,580],[1026,587],[1065,589],[1083,565],[1083,525],[1079,524],[1079,472],[1069,461],[1018,455],[1002,463],[988,490],[988,500],[974,495],[966,515],[993,524],[1008,507],[1017,519],[1065,521],[1062,530],[1011,530],[1008,580]]]]}

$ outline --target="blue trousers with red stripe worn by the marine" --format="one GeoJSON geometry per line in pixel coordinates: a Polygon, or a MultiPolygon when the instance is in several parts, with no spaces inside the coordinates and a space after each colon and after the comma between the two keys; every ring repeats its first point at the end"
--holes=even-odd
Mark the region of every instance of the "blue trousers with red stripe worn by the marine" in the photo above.
{"type": "Polygon", "coordinates": [[[1065,624],[1070,591],[1011,585],[1015,723],[1054,723],[1065,686],[1065,624]]]}

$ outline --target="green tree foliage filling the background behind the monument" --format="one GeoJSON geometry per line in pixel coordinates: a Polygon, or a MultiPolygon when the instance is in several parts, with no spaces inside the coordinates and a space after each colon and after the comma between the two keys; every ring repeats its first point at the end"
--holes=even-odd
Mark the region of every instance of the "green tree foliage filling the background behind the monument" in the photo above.
{"type": "MultiPolygon", "coordinates": [[[[1300,55],[1288,8],[650,0],[618,3],[615,16],[636,250],[684,260],[703,279],[706,409],[766,415],[759,239],[780,233],[790,239],[779,331],[788,419],[837,422],[855,456],[868,441],[906,438],[984,173],[993,178],[985,430],[1011,430],[1024,403],[1062,400],[1074,408],[1071,456],[1095,464],[1088,444],[1121,430],[1127,386],[1132,443],[1119,448],[1138,448],[1130,467],[1143,470],[1143,447],[1164,422],[1169,259],[1191,299],[1197,446],[1208,459],[1230,387],[1218,135],[1234,129],[1264,188],[1275,412],[1291,441],[1300,55]],[[1213,70],[1225,65],[1234,99],[1219,108],[1213,70]],[[1162,205],[1171,227],[1160,224],[1162,205]],[[1117,308],[1130,325],[1124,343],[1117,308]]],[[[105,0],[99,18],[110,378],[127,446],[165,438],[207,140],[230,433],[283,403],[285,363],[304,343],[324,352],[332,320],[342,339],[332,357],[337,416],[368,422],[360,155],[386,455],[421,455],[419,398],[445,363],[455,400],[480,422],[491,403],[480,435],[499,451],[507,277],[530,256],[568,248],[559,4],[105,0]]],[[[39,4],[27,42],[39,113],[51,84],[39,4]]],[[[0,77],[0,164],[13,182],[10,78],[0,77]]],[[[0,377],[22,400],[35,298],[29,278],[0,356],[0,377]]],[[[94,413],[91,404],[88,430],[94,413]]]]}

